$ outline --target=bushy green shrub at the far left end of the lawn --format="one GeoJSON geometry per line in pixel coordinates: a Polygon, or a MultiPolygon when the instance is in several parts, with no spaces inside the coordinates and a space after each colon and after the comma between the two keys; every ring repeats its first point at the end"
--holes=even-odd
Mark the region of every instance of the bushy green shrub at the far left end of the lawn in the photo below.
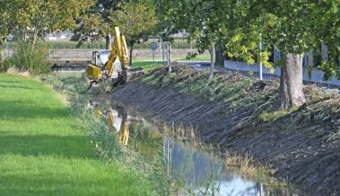
{"type": "Polygon", "coordinates": [[[5,64],[15,67],[20,71],[29,71],[33,75],[48,73],[48,49],[39,47],[31,49],[31,44],[21,43],[14,50],[13,57],[6,59],[5,64]]]}

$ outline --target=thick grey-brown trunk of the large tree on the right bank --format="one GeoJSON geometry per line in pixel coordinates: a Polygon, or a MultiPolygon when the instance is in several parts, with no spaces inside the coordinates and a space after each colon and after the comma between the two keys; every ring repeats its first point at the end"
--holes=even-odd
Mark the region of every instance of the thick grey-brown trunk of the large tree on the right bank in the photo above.
{"type": "Polygon", "coordinates": [[[306,102],[302,83],[302,55],[286,53],[281,67],[279,101],[281,109],[300,107],[306,102]]]}

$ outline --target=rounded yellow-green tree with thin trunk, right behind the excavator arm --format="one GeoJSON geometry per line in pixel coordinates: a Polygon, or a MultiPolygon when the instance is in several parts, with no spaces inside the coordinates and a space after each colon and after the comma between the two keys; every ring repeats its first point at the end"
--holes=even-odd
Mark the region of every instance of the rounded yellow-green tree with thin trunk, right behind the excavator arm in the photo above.
{"type": "Polygon", "coordinates": [[[154,8],[144,1],[131,1],[123,4],[121,10],[114,15],[115,23],[119,26],[126,37],[129,51],[129,64],[132,65],[132,53],[135,43],[147,40],[153,32],[157,20],[154,8]]]}

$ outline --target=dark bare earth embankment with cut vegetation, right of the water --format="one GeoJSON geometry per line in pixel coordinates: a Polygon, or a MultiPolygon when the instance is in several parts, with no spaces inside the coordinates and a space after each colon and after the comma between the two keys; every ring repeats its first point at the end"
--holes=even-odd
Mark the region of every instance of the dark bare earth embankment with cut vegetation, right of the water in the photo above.
{"type": "Polygon", "coordinates": [[[161,119],[196,126],[222,150],[241,151],[301,185],[306,195],[340,194],[340,97],[307,86],[307,106],[275,111],[277,82],[174,67],[118,88],[113,99],[161,119]]]}

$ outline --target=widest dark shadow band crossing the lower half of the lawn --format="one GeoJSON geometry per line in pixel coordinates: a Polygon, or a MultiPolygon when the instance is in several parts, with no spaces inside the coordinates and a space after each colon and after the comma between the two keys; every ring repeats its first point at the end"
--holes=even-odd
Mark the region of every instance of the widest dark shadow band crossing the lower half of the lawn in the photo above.
{"type": "Polygon", "coordinates": [[[85,136],[0,136],[0,155],[64,156],[72,158],[95,158],[94,147],[85,136]]]}

